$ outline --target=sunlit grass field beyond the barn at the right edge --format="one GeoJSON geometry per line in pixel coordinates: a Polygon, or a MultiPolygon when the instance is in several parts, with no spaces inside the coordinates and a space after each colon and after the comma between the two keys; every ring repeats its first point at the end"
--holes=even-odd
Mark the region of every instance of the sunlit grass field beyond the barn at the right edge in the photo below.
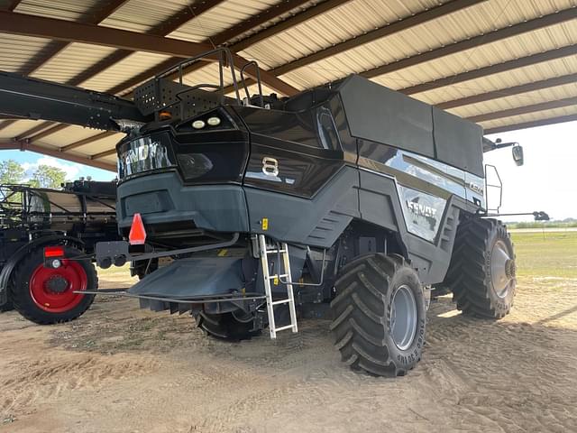
{"type": "Polygon", "coordinates": [[[577,232],[513,233],[520,277],[577,278],[577,232]]]}

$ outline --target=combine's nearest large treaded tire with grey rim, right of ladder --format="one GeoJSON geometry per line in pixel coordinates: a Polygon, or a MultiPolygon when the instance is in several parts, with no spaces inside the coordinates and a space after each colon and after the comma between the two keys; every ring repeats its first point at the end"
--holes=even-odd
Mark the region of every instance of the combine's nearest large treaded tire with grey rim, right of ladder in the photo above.
{"type": "Polygon", "coordinates": [[[345,364],[380,376],[415,367],[425,345],[426,305],[417,272],[403,257],[355,259],[334,287],[331,330],[345,364]]]}

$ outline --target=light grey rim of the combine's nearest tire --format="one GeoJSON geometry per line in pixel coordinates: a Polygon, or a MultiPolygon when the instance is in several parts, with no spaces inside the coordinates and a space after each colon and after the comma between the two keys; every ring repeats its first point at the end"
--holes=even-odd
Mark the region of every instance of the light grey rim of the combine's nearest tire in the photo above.
{"type": "Polygon", "coordinates": [[[417,300],[407,285],[395,290],[390,311],[390,331],[395,345],[406,350],[417,333],[417,300]]]}

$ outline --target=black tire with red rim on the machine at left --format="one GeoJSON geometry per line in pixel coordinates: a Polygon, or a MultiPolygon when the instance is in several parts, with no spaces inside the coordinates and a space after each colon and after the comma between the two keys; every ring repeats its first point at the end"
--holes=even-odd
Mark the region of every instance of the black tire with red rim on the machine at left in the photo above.
{"type": "MultiPolygon", "coordinates": [[[[66,256],[82,255],[65,247],[66,256]]],[[[96,290],[96,269],[89,260],[60,261],[59,268],[44,267],[44,254],[38,248],[14,270],[10,299],[24,318],[40,325],[68,322],[80,317],[94,301],[94,295],[74,293],[75,290],[96,290]]]]}

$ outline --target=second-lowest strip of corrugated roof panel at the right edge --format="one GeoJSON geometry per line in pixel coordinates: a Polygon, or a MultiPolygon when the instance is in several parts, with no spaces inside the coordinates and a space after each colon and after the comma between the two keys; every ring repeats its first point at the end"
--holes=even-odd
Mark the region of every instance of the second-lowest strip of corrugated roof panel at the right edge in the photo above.
{"type": "Polygon", "coordinates": [[[577,97],[577,83],[557,86],[555,88],[544,88],[533,92],[527,92],[522,95],[499,97],[498,99],[492,99],[490,101],[480,102],[470,106],[455,107],[448,111],[462,117],[471,117],[473,115],[494,113],[521,106],[533,106],[535,104],[555,101],[566,97],[577,97]]]}

